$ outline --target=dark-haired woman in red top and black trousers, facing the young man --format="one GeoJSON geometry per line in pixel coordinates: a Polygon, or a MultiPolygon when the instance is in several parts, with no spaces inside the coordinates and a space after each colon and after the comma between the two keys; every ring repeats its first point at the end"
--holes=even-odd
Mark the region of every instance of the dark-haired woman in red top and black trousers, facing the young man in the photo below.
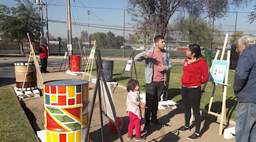
{"type": "Polygon", "coordinates": [[[201,115],[199,112],[201,99],[201,85],[209,79],[208,67],[205,58],[201,56],[200,46],[191,44],[186,51],[182,75],[182,100],[185,106],[185,125],[179,131],[190,131],[191,108],[195,116],[195,131],[188,139],[200,137],[201,115]]]}

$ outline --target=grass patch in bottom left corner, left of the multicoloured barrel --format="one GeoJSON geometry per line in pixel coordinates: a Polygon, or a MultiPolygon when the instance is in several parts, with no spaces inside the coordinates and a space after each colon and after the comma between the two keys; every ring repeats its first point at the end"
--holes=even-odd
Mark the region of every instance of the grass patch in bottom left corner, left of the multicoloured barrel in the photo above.
{"type": "Polygon", "coordinates": [[[11,86],[0,88],[0,141],[37,141],[11,86]]]}

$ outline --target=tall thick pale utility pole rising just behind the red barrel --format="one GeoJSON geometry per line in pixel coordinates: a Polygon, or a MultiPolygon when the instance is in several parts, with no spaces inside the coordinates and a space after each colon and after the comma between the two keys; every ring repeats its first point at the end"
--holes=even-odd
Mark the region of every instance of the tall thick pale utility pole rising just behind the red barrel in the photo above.
{"type": "Polygon", "coordinates": [[[66,30],[67,30],[67,40],[66,48],[68,48],[68,55],[72,55],[72,32],[71,32],[71,19],[70,19],[70,0],[66,0],[66,30]]]}

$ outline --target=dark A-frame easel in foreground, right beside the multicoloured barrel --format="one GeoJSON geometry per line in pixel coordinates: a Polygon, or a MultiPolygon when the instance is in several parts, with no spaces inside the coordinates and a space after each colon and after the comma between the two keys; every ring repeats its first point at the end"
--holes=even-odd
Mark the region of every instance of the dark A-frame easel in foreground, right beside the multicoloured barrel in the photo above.
{"type": "Polygon", "coordinates": [[[100,50],[98,50],[98,49],[96,49],[96,68],[97,68],[97,79],[96,79],[96,85],[95,85],[95,89],[94,89],[94,93],[93,93],[92,106],[90,108],[90,117],[89,117],[89,120],[88,120],[88,126],[87,126],[87,129],[86,129],[86,136],[85,136],[84,142],[86,142],[86,139],[88,139],[88,134],[89,134],[89,131],[90,131],[90,124],[92,122],[92,114],[93,114],[93,110],[94,110],[94,104],[95,104],[97,92],[98,92],[98,101],[99,101],[98,104],[99,104],[99,108],[100,108],[100,124],[101,124],[102,141],[104,141],[103,120],[102,120],[102,114],[104,114],[104,116],[106,116],[110,121],[112,121],[116,125],[118,135],[120,137],[120,141],[123,142],[122,133],[120,131],[120,126],[119,126],[118,120],[116,118],[116,110],[114,108],[114,103],[111,99],[110,90],[108,90],[108,86],[106,84],[106,79],[104,78],[104,74],[103,74],[103,71],[102,71],[102,60],[101,60],[100,50]],[[106,89],[106,94],[108,96],[108,101],[110,102],[110,107],[111,107],[111,110],[112,110],[112,114],[114,116],[114,120],[112,120],[110,117],[108,117],[108,115],[106,115],[102,111],[102,98],[101,98],[101,91],[100,91],[101,90],[100,89],[100,81],[102,82],[102,84],[104,85],[104,88],[106,89]]]}

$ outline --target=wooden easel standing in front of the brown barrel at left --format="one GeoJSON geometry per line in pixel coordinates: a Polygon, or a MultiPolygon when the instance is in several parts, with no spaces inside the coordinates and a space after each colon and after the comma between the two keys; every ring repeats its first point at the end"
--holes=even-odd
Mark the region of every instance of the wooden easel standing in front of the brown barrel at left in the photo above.
{"type": "MultiPolygon", "coordinates": [[[[26,77],[27,77],[27,71],[29,69],[29,62],[30,62],[30,59],[31,57],[33,57],[33,61],[35,63],[35,69],[37,71],[37,77],[39,78],[39,88],[42,90],[43,92],[43,77],[42,77],[42,74],[41,74],[41,70],[40,70],[40,67],[39,67],[39,63],[37,61],[37,57],[35,56],[35,50],[31,44],[31,40],[30,40],[30,37],[29,37],[29,32],[27,32],[27,37],[29,38],[29,46],[30,46],[30,54],[29,54],[29,61],[27,63],[27,69],[26,69],[26,73],[24,75],[24,79],[23,79],[23,85],[22,85],[22,89],[21,89],[21,92],[23,92],[23,88],[24,88],[24,85],[25,85],[25,80],[26,80],[26,77]]],[[[19,98],[21,98],[21,94],[19,95],[19,98]]]]}

